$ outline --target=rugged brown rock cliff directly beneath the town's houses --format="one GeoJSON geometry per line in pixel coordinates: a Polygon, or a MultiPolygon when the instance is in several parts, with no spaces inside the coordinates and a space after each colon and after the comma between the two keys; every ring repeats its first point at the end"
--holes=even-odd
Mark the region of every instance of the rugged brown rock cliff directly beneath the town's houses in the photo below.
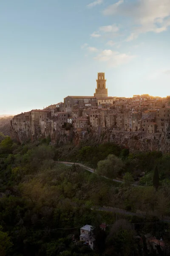
{"type": "MultiPolygon", "coordinates": [[[[37,140],[44,138],[43,134],[36,134],[32,137],[30,133],[25,131],[14,131],[11,128],[11,138],[20,143],[28,140],[37,140]]],[[[51,135],[51,143],[64,145],[65,143],[73,143],[75,146],[80,143],[99,144],[104,142],[113,142],[117,145],[129,148],[130,152],[135,151],[162,151],[167,153],[170,151],[170,127],[166,132],[148,134],[145,131],[114,131],[99,127],[96,131],[90,128],[82,130],[61,129],[54,131],[51,135]]]]}

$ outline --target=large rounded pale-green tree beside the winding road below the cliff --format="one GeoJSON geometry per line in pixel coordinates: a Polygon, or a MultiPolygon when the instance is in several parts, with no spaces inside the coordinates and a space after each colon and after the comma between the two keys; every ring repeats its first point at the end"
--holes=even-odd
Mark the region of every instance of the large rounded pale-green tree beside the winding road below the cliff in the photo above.
{"type": "Polygon", "coordinates": [[[97,173],[108,178],[115,178],[122,171],[123,167],[122,159],[110,154],[107,159],[98,162],[97,173]]]}

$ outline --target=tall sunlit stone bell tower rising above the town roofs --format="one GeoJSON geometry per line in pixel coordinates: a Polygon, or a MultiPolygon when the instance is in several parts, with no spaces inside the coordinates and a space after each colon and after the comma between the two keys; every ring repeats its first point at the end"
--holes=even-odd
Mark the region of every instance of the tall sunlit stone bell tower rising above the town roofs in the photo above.
{"type": "Polygon", "coordinates": [[[97,88],[96,92],[94,93],[94,97],[97,99],[108,97],[108,89],[106,88],[106,79],[105,79],[105,73],[98,73],[98,77],[96,79],[97,82],[97,88]]]}

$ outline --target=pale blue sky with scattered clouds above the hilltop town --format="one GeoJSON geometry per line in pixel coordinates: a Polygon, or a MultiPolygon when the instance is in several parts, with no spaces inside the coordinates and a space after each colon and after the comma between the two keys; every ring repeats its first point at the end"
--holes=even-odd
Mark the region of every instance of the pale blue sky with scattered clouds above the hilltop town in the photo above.
{"type": "Polygon", "coordinates": [[[0,114],[93,96],[170,95],[170,0],[0,1],[0,114]]]}

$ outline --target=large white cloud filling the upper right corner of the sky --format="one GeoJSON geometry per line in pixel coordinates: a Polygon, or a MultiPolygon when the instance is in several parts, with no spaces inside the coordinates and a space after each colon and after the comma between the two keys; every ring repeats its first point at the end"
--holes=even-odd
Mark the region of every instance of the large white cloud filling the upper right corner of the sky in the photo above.
{"type": "Polygon", "coordinates": [[[136,27],[126,41],[146,32],[161,33],[170,26],[170,0],[139,0],[136,3],[120,0],[103,11],[104,15],[122,15],[133,20],[136,27]]]}

